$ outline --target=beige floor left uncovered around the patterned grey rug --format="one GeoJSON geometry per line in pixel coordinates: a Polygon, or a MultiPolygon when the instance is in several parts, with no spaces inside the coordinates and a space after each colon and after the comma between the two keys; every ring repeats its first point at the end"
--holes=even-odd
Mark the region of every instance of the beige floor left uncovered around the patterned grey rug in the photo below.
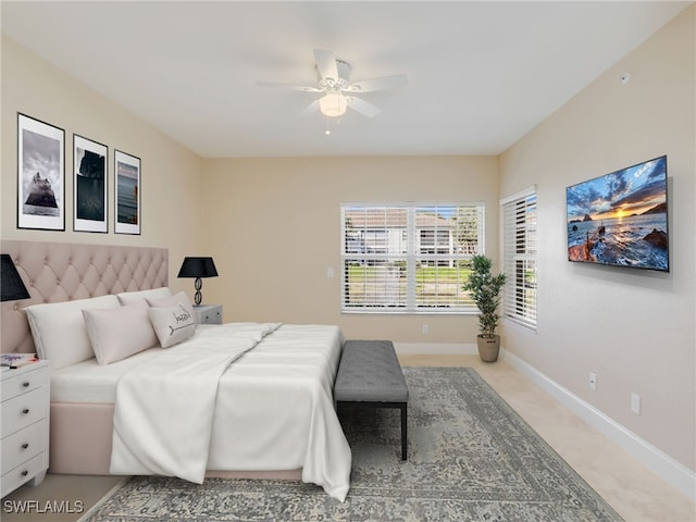
{"type": "MultiPolygon", "coordinates": [[[[579,419],[531,383],[504,360],[481,362],[477,356],[401,355],[403,365],[473,366],[524,420],[627,522],[696,522],[696,504],[670,486],[614,443],[579,419]]],[[[22,486],[2,499],[3,522],[72,522],[89,509],[122,477],[48,474],[37,487],[22,486]],[[28,506],[52,502],[62,513],[14,512],[28,506]],[[65,512],[72,511],[72,512],[65,512]]],[[[45,510],[46,511],[46,510],[45,510]]]]}

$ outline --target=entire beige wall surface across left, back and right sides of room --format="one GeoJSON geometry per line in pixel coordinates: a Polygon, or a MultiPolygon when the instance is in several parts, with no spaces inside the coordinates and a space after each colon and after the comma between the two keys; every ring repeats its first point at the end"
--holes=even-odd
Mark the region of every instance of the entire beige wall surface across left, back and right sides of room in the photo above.
{"type": "Polygon", "coordinates": [[[171,284],[189,294],[191,282],[175,277],[181,259],[212,254],[220,277],[204,282],[204,301],[223,303],[227,321],[469,344],[475,316],[340,314],[339,203],[482,200],[486,252],[498,261],[498,200],[536,184],[538,333],[504,324],[505,347],[694,470],[695,16],[692,7],[499,158],[203,160],[3,36],[1,237],[167,247],[171,284]],[[17,111],[65,129],[65,232],[16,229],[17,111]],[[73,133],[109,146],[109,234],[72,232],[73,133]],[[114,148],[142,159],[141,236],[113,233],[114,148]],[[569,263],[564,188],[662,153],[671,273],[569,263]],[[643,397],[641,415],[630,412],[632,391],[643,397]]]}

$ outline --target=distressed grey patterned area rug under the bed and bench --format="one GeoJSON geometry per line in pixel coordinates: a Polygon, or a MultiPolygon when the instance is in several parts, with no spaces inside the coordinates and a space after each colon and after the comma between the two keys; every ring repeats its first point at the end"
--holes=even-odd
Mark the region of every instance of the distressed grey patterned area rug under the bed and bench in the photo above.
{"type": "Polygon", "coordinates": [[[291,481],[132,477],[84,522],[622,520],[470,368],[403,368],[409,459],[398,410],[341,410],[352,449],[345,502],[291,481]]]}

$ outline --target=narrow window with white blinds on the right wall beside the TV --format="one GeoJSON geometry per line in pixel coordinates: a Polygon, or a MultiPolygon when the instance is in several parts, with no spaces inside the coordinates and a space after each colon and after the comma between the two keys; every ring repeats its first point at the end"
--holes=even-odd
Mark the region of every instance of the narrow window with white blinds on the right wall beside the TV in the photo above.
{"type": "Polygon", "coordinates": [[[500,202],[504,226],[504,316],[536,331],[536,188],[500,202]]]}

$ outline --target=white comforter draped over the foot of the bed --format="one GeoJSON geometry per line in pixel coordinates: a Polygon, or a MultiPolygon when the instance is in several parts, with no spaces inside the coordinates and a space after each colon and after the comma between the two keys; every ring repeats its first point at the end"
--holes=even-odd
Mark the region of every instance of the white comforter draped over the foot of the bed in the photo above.
{"type": "Polygon", "coordinates": [[[207,469],[301,468],[343,501],[351,456],[332,398],[339,355],[335,326],[199,326],[120,380],[111,472],[200,484],[207,469]]]}

